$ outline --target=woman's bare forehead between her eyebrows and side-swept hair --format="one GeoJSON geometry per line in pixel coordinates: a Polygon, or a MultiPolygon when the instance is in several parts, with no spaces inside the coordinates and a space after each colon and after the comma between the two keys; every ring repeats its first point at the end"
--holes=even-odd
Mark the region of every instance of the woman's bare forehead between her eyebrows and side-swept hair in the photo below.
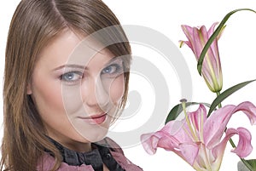
{"type": "Polygon", "coordinates": [[[73,31],[63,31],[41,50],[36,67],[44,65],[53,68],[67,64],[87,66],[95,57],[102,57],[104,63],[103,60],[111,60],[113,54],[93,39],[87,39],[73,31]]]}

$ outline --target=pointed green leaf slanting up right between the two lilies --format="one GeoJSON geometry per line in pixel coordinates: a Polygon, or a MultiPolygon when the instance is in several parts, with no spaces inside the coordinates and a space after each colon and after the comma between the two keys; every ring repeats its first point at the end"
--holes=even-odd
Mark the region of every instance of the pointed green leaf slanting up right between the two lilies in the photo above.
{"type": "Polygon", "coordinates": [[[243,88],[244,86],[246,86],[248,83],[252,83],[256,81],[255,80],[251,80],[251,81],[247,81],[247,82],[243,82],[243,83],[238,83],[235,86],[226,89],[222,94],[219,94],[218,97],[212,101],[212,105],[208,111],[208,115],[207,117],[209,117],[212,113],[212,111],[216,108],[216,106],[218,104],[220,104],[223,100],[225,100],[227,97],[229,97],[231,94],[235,93],[237,90],[239,90],[240,88],[243,88]]]}

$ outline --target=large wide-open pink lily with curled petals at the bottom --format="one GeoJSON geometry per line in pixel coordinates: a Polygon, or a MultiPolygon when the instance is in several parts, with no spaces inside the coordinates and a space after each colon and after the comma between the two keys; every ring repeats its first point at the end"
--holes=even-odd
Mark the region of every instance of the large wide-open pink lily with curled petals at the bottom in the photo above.
{"type": "Polygon", "coordinates": [[[256,124],[256,107],[250,102],[226,105],[210,117],[205,106],[200,105],[183,120],[170,121],[160,131],[143,134],[143,147],[148,154],[154,154],[157,147],[173,151],[197,171],[218,171],[226,144],[233,135],[239,135],[236,149],[232,150],[238,157],[247,157],[253,151],[251,134],[246,128],[226,129],[236,111],[243,111],[251,123],[256,124]]]}

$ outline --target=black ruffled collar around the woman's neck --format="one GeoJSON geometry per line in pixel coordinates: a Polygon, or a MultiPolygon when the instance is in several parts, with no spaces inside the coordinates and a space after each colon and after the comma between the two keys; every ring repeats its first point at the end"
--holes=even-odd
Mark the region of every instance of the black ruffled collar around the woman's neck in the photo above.
{"type": "MultiPolygon", "coordinates": [[[[104,163],[111,171],[124,171],[112,157],[111,149],[109,150],[107,146],[92,143],[92,146],[95,147],[92,151],[78,152],[67,149],[51,138],[49,138],[49,141],[61,152],[62,162],[66,162],[68,165],[80,166],[86,164],[91,165],[95,171],[102,171],[104,163]]],[[[50,151],[47,152],[50,153],[50,151]]]]}

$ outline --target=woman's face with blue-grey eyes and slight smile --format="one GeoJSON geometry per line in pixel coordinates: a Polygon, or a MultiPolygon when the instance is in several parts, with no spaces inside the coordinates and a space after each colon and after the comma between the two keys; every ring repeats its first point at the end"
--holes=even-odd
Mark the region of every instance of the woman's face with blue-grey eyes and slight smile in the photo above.
{"type": "Polygon", "coordinates": [[[43,48],[27,89],[49,137],[73,149],[104,138],[125,88],[123,60],[83,38],[63,31],[43,48]]]}

